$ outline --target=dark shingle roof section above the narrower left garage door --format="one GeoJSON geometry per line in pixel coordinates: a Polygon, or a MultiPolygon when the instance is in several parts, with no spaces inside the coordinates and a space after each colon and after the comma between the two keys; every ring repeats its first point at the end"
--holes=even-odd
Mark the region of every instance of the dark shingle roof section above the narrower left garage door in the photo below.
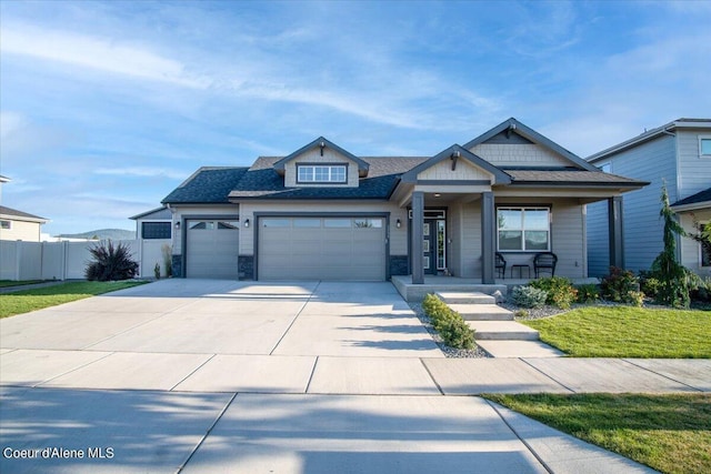
{"type": "Polygon", "coordinates": [[[229,203],[230,191],[237,188],[247,170],[246,167],[200,168],[161,202],[163,204],[229,203]]]}

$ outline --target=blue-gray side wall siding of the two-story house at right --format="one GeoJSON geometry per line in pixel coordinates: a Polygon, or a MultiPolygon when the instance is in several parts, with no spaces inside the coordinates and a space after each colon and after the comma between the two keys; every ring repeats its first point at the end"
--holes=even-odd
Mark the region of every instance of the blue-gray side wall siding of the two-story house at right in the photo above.
{"type": "MultiPolygon", "coordinates": [[[[679,199],[675,149],[674,137],[660,135],[605,160],[611,163],[611,173],[651,183],[641,190],[625,193],[622,198],[624,263],[629,270],[635,272],[649,270],[657,255],[662,251],[663,223],[659,219],[659,198],[662,182],[665,181],[670,202],[673,203],[679,199]]],[[[600,165],[601,163],[595,164],[600,165]]],[[[607,206],[589,206],[589,241],[598,239],[597,235],[600,232],[607,232],[607,224],[604,230],[601,230],[600,212],[604,213],[603,219],[607,220],[607,206]]],[[[593,253],[593,251],[594,249],[591,249],[591,260],[603,261],[604,256],[597,252],[593,253]]]]}

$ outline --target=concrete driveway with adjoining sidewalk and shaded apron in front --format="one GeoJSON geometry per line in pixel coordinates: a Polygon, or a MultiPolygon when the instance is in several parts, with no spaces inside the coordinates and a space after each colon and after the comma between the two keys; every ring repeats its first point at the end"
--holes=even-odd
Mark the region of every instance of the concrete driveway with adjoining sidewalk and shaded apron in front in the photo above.
{"type": "Polygon", "coordinates": [[[387,283],[159,281],[0,320],[0,347],[1,447],[84,456],[3,473],[649,472],[448,395],[711,392],[708,360],[444,359],[387,283]]]}

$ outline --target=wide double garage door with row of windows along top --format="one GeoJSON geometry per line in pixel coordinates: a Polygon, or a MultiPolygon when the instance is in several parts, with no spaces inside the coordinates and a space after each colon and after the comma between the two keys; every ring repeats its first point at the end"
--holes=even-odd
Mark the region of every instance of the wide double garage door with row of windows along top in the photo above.
{"type": "Polygon", "coordinates": [[[383,218],[262,218],[259,280],[385,279],[383,218]]]}

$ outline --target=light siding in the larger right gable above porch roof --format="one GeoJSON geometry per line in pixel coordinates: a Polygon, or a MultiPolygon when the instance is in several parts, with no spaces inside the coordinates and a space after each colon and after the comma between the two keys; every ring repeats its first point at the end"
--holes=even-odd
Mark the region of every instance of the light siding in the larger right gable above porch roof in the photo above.
{"type": "Polygon", "coordinates": [[[570,167],[571,162],[534,143],[480,143],[471,150],[495,167],[570,167]]]}

